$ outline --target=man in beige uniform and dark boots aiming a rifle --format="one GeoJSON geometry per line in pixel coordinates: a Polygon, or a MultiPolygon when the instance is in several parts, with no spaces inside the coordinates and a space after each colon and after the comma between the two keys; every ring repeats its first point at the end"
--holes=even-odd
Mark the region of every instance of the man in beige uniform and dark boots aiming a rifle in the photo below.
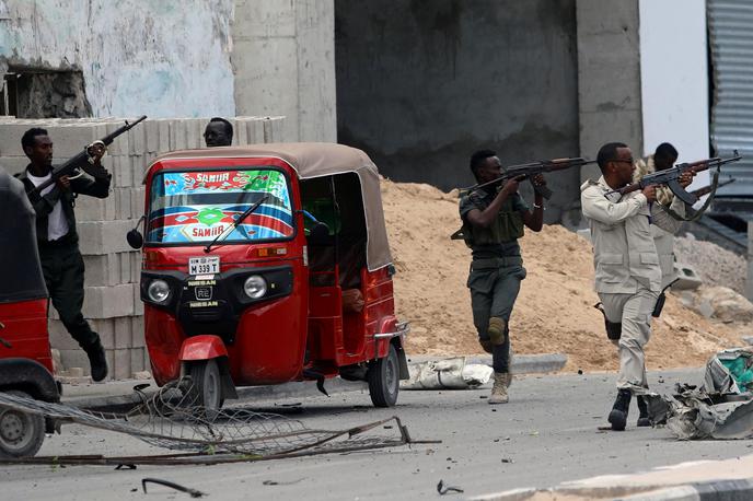
{"type": "MultiPolygon", "coordinates": [[[[670,228],[672,218],[652,208],[654,186],[625,196],[606,195],[633,182],[633,153],[626,144],[604,144],[596,162],[602,176],[581,186],[580,201],[591,226],[596,293],[607,322],[622,324],[617,398],[609,421],[613,430],[624,430],[632,395],[642,395],[648,386],[644,346],[651,335],[651,312],[661,292],[661,268],[650,226],[670,228]]],[[[687,186],[691,177],[683,175],[680,183],[687,186]]],[[[675,206],[673,202],[672,209],[675,206]]]]}

